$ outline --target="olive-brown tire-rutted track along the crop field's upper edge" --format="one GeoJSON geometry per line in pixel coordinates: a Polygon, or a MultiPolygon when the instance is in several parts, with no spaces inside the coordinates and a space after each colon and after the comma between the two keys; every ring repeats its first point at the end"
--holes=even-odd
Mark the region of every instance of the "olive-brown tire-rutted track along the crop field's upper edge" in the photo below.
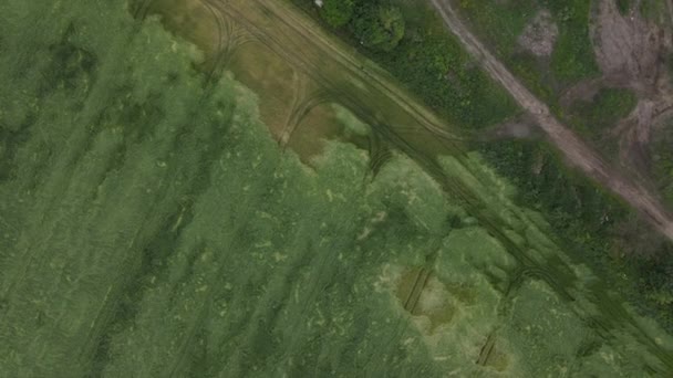
{"type": "MultiPolygon", "coordinates": [[[[289,4],[283,6],[283,2],[228,0],[219,2],[217,8],[240,22],[245,29],[259,39],[260,43],[303,71],[317,83],[323,85],[335,102],[341,103],[356,117],[369,124],[373,132],[382,137],[383,143],[397,147],[415,160],[439,183],[447,195],[456,199],[462,206],[465,206],[466,210],[479,221],[480,225],[494,239],[505,246],[519,264],[531,267],[539,265],[525,248],[518,245],[504,231],[509,228],[508,223],[498,214],[493,213],[488,208],[488,203],[477,196],[467,183],[463,182],[460,178],[447,174],[434,156],[423,150],[424,146],[420,145],[417,140],[410,140],[400,135],[401,130],[404,130],[404,134],[407,134],[410,130],[408,126],[403,126],[404,124],[416,124],[418,134],[432,134],[445,147],[445,153],[452,154],[459,164],[469,167],[466,164],[467,157],[465,150],[458,144],[459,138],[447,132],[449,127],[444,125],[443,122],[437,120],[427,108],[414,101],[413,97],[406,95],[405,92],[397,90],[394,81],[392,78],[389,80],[387,74],[377,72],[375,67],[367,66],[367,70],[364,70],[362,62],[348,54],[348,48],[336,45],[334,41],[319,34],[318,31],[313,30],[314,25],[303,20],[301,15],[294,14],[297,10],[291,9],[289,4]],[[260,17],[259,13],[263,15],[260,17]],[[273,32],[270,33],[270,30],[273,32]],[[286,38],[288,39],[286,41],[288,43],[281,41],[286,38]],[[298,41],[299,39],[304,41],[298,41]],[[299,44],[301,42],[306,42],[308,45],[303,46],[299,44]],[[299,48],[302,49],[294,51],[299,48]],[[315,51],[319,52],[317,53],[315,51]],[[330,69],[338,70],[340,75],[338,77],[330,76],[328,74],[330,69]],[[353,81],[366,83],[366,87],[353,85],[353,81]],[[386,116],[383,114],[384,112],[387,116],[392,114],[393,117],[386,119],[386,116]],[[395,118],[394,116],[397,115],[403,115],[403,118],[395,118]],[[393,123],[391,124],[390,120],[393,120],[393,123]],[[397,127],[398,125],[402,128],[397,127]],[[442,127],[444,127],[442,133],[436,133],[442,127]]],[[[541,106],[542,109],[546,109],[547,117],[550,117],[547,107],[541,106]]],[[[607,169],[603,166],[600,168],[607,169]]],[[[527,217],[525,216],[518,216],[517,218],[520,221],[527,222],[527,217]]],[[[572,296],[568,295],[568,290],[572,292],[572,285],[570,285],[571,287],[566,287],[565,283],[573,282],[569,280],[569,277],[573,276],[572,270],[566,264],[557,267],[555,274],[561,274],[563,279],[546,280],[550,276],[550,273],[546,274],[543,267],[538,269],[542,273],[535,275],[545,280],[562,297],[571,301],[572,296]]],[[[309,295],[309,298],[313,295],[315,294],[309,295]]],[[[611,313],[605,311],[608,308],[605,303],[599,302],[597,305],[599,306],[602,323],[603,318],[610,317],[608,314],[611,313]]],[[[570,306],[580,318],[586,319],[586,311],[580,307],[578,305],[570,306]]],[[[627,325],[633,323],[633,319],[628,314],[618,314],[612,317],[617,317],[615,321],[620,324],[627,325]]],[[[640,327],[629,328],[633,334],[638,335],[636,337],[646,338],[644,329],[640,327]]],[[[649,346],[656,350],[655,354],[658,356],[663,357],[665,355],[665,351],[659,346],[653,344],[649,346]]],[[[664,364],[673,367],[671,361],[666,360],[664,364]]]]}

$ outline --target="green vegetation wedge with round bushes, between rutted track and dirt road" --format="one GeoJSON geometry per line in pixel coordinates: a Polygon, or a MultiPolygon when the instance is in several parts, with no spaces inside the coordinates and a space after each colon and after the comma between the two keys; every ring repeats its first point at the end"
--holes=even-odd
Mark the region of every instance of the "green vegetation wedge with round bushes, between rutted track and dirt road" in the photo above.
{"type": "Polygon", "coordinates": [[[485,128],[518,113],[505,90],[479,70],[426,7],[387,0],[325,0],[320,8],[312,0],[292,2],[465,129],[485,128]]]}

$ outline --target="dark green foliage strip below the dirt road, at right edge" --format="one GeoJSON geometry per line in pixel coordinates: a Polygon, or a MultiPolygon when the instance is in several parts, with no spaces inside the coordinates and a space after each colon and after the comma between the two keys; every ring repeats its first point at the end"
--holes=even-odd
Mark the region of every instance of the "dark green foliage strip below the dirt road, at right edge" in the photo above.
{"type": "Polygon", "coordinates": [[[641,313],[673,329],[673,275],[662,273],[671,266],[652,270],[652,261],[671,261],[673,245],[612,195],[566,168],[551,150],[517,140],[480,148],[497,171],[516,183],[518,202],[545,214],[571,255],[619,287],[641,313]]]}

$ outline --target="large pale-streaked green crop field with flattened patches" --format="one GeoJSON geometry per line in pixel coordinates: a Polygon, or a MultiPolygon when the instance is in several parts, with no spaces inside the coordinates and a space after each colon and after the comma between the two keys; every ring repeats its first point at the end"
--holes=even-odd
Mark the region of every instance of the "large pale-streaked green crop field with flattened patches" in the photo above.
{"type": "MultiPolygon", "coordinates": [[[[391,101],[373,63],[372,83],[313,76],[343,91],[315,107],[341,134],[302,155],[271,125],[281,85],[235,59],[204,72],[135,9],[0,3],[0,377],[673,371],[673,337],[479,154],[431,151],[411,111],[367,107],[391,101]]],[[[325,127],[311,112],[296,133],[325,127]]]]}

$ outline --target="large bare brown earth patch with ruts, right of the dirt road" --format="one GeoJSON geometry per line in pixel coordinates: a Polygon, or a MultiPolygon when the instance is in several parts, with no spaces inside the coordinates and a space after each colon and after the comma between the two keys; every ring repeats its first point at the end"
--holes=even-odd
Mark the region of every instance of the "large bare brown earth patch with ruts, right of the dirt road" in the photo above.
{"type": "Polygon", "coordinates": [[[630,88],[639,98],[633,112],[612,130],[619,139],[620,162],[641,180],[650,181],[652,127],[673,105],[673,87],[665,67],[665,57],[672,50],[671,32],[641,18],[638,4],[625,17],[619,13],[614,1],[600,1],[597,8],[591,36],[603,72],[602,85],[630,88]]]}

